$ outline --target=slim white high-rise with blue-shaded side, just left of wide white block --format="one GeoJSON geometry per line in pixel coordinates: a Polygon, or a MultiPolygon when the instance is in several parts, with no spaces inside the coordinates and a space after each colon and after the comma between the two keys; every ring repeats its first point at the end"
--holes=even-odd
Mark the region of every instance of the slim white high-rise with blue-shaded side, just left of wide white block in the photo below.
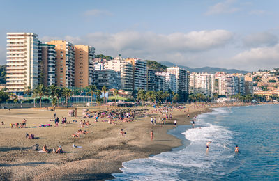
{"type": "Polygon", "coordinates": [[[174,74],[176,77],[176,92],[182,91],[189,93],[190,72],[179,67],[167,68],[169,74],[174,74]]]}

